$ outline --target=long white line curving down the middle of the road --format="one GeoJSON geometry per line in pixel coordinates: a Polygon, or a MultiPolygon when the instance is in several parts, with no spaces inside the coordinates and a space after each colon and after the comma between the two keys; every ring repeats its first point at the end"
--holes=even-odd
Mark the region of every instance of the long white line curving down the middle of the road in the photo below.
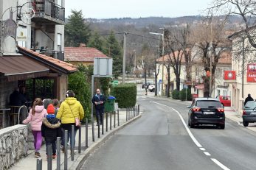
{"type": "MultiPolygon", "coordinates": [[[[149,101],[149,102],[153,102],[153,101],[149,101]]],[[[190,135],[190,138],[192,139],[192,141],[196,144],[196,146],[198,146],[201,151],[205,151],[206,149],[203,148],[203,146],[201,146],[201,144],[196,140],[196,138],[194,137],[194,135],[192,134],[192,132],[190,131],[190,129],[187,127],[187,124],[185,123],[184,121],[184,118],[181,116],[181,113],[179,113],[178,110],[174,109],[173,107],[170,107],[170,106],[167,106],[167,105],[163,105],[161,103],[158,103],[158,102],[153,102],[157,105],[162,105],[162,106],[165,106],[165,107],[168,107],[174,111],[176,111],[176,113],[178,113],[179,117],[181,118],[181,121],[185,127],[185,129],[187,130],[187,133],[188,135],[190,135]]],[[[209,152],[204,152],[205,155],[207,156],[210,156],[210,153],[209,152]]],[[[216,160],[215,158],[211,158],[211,160],[216,163],[218,166],[221,167],[221,169],[224,169],[224,170],[230,170],[229,168],[227,168],[226,166],[224,166],[224,164],[220,163],[218,160],[216,160]]]]}

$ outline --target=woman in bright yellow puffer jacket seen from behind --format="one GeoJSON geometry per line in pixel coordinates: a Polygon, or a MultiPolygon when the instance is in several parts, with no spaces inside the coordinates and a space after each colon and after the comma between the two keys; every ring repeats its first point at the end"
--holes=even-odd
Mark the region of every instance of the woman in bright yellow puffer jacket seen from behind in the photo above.
{"type": "MultiPolygon", "coordinates": [[[[72,125],[75,126],[75,118],[80,118],[82,120],[84,117],[83,106],[75,98],[75,93],[73,91],[66,92],[66,99],[60,105],[56,118],[61,121],[62,129],[68,130],[68,141],[70,139],[70,146],[75,146],[71,138],[72,125]]],[[[75,135],[79,127],[75,126],[75,135]]],[[[63,134],[64,135],[64,134],[63,134]]],[[[64,140],[61,140],[61,145],[64,146],[64,140]]],[[[64,151],[64,148],[62,149],[64,151]]]]}

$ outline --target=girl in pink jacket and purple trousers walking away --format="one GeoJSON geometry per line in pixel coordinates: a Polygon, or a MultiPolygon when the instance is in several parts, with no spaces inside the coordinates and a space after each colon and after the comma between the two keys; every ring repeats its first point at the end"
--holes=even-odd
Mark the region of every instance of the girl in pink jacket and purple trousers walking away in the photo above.
{"type": "Polygon", "coordinates": [[[36,98],[33,102],[32,109],[30,109],[29,116],[23,121],[23,124],[30,123],[32,134],[34,136],[35,157],[40,157],[39,151],[42,145],[41,126],[42,120],[46,115],[47,110],[44,109],[42,99],[36,98]]]}

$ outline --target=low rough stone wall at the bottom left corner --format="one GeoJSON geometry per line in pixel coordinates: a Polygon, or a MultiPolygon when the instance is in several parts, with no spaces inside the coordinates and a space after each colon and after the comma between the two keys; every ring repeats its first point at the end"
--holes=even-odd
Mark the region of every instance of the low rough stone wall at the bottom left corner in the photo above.
{"type": "Polygon", "coordinates": [[[9,169],[27,156],[29,131],[28,126],[21,124],[0,130],[0,170],[9,169]]]}

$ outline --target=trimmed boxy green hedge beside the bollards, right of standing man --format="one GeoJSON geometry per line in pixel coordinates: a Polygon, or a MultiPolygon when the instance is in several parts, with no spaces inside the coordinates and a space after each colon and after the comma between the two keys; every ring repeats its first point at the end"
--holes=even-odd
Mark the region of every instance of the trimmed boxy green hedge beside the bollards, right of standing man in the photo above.
{"type": "Polygon", "coordinates": [[[116,98],[118,102],[118,107],[134,107],[136,105],[136,84],[125,83],[120,84],[111,88],[111,95],[116,98]]]}

